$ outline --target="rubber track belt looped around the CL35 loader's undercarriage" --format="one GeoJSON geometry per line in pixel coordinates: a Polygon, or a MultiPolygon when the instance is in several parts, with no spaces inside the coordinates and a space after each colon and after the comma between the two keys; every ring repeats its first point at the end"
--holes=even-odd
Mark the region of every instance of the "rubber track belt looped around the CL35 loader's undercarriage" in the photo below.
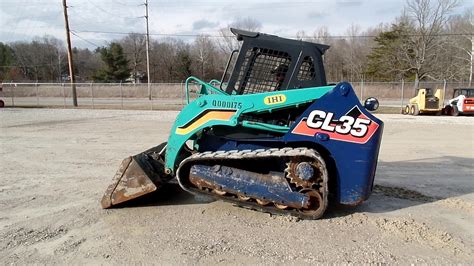
{"type": "MultiPolygon", "coordinates": [[[[182,178],[180,176],[181,171],[184,166],[188,170],[190,169],[191,165],[188,167],[187,164],[192,164],[200,161],[223,161],[223,160],[241,160],[241,159],[261,159],[261,158],[270,158],[270,157],[278,157],[278,158],[284,158],[284,157],[309,157],[315,160],[318,160],[321,162],[321,167],[323,168],[323,182],[322,182],[322,187],[323,187],[323,204],[324,204],[324,209],[327,208],[328,200],[327,200],[327,195],[328,195],[328,173],[327,173],[327,168],[326,164],[324,163],[324,159],[319,155],[318,152],[316,152],[313,149],[308,149],[308,148],[282,148],[282,149],[277,149],[277,148],[272,148],[272,149],[258,149],[258,150],[231,150],[231,151],[216,151],[216,152],[203,152],[203,153],[195,153],[188,158],[184,159],[177,170],[176,176],[178,177],[178,183],[179,185],[186,191],[192,193],[192,194],[206,194],[209,195],[213,198],[219,199],[219,200],[224,200],[227,202],[232,202],[234,204],[237,204],[240,207],[244,208],[249,208],[253,210],[258,210],[262,212],[268,212],[271,214],[276,214],[276,215],[292,215],[295,217],[299,217],[302,219],[318,219],[320,217],[313,217],[306,215],[298,210],[295,209],[290,209],[290,210],[280,210],[276,208],[273,205],[269,206],[263,206],[259,205],[256,202],[252,201],[241,201],[238,200],[236,197],[228,197],[228,196],[219,196],[216,195],[215,193],[212,192],[207,192],[200,190],[198,188],[186,186],[183,182],[181,182],[182,178]]],[[[189,174],[189,173],[188,173],[189,174]]],[[[189,178],[189,176],[185,177],[186,180],[189,178]]]]}

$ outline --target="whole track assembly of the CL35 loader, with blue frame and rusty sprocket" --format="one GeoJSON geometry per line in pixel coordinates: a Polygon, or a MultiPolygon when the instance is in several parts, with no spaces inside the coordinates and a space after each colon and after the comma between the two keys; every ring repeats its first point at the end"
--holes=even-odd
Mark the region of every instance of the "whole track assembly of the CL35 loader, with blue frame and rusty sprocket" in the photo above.
{"type": "Polygon", "coordinates": [[[308,148],[195,153],[180,163],[176,176],[192,194],[271,214],[318,219],[328,204],[326,164],[308,148]]]}

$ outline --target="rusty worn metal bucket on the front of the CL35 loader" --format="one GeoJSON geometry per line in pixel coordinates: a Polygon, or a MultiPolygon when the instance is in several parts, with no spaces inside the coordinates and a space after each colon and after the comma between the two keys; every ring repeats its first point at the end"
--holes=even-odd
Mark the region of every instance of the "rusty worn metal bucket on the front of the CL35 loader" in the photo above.
{"type": "Polygon", "coordinates": [[[126,158],[102,197],[102,208],[107,209],[159,189],[170,180],[164,176],[162,169],[162,162],[147,152],[126,158]]]}

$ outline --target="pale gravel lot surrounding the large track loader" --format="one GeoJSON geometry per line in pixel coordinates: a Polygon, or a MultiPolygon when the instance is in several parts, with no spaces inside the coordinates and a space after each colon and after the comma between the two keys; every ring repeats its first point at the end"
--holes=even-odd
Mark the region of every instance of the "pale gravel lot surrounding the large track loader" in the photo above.
{"type": "Polygon", "coordinates": [[[176,187],[99,199],[121,160],[166,141],[177,112],[0,110],[2,264],[474,261],[474,117],[379,115],[375,193],[317,221],[202,202],[176,187]]]}

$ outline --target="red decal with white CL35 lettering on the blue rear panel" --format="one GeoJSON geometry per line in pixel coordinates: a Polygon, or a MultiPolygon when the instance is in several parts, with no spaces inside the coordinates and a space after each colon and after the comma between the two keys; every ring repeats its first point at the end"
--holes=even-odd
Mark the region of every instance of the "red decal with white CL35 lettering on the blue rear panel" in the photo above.
{"type": "Polygon", "coordinates": [[[379,124],[354,106],[347,114],[334,119],[334,113],[313,110],[293,129],[293,134],[314,136],[325,133],[330,139],[364,144],[377,131],[379,124]]]}

